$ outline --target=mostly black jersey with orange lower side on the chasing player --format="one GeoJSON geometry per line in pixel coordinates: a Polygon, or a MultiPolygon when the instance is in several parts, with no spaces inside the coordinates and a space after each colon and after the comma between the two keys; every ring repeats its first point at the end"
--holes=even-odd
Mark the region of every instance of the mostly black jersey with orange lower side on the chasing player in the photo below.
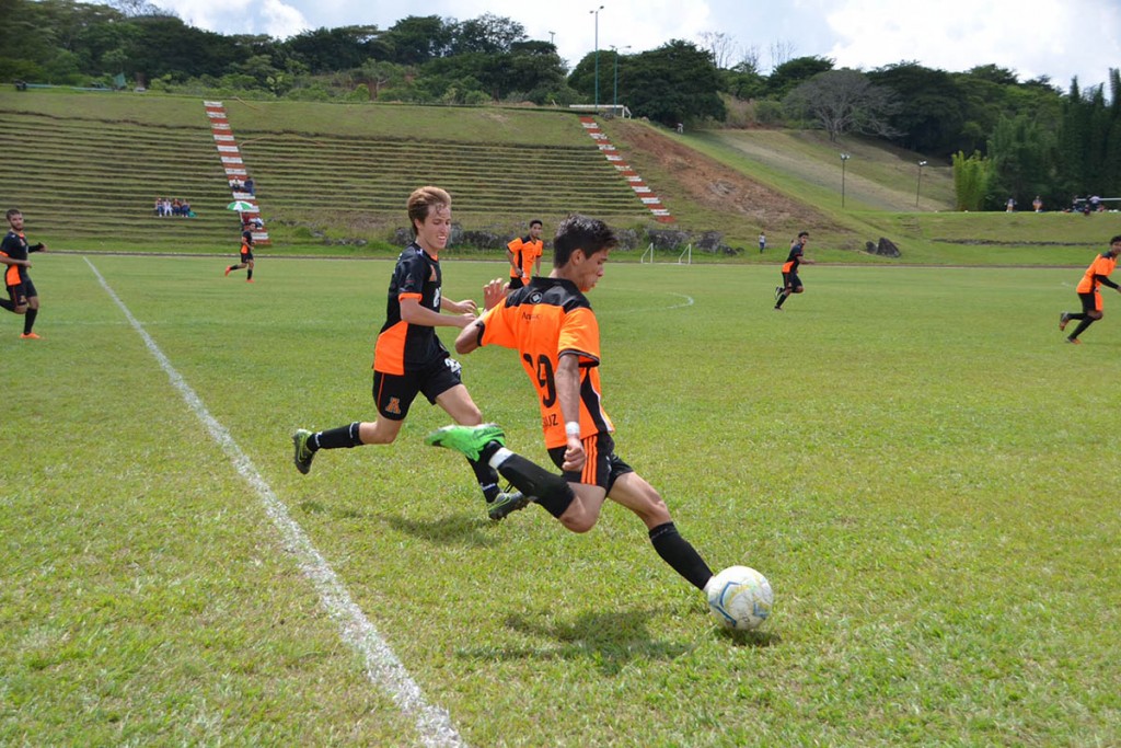
{"type": "Polygon", "coordinates": [[[401,320],[401,299],[415,298],[420,306],[439,313],[439,260],[413,242],[397,258],[393,278],[389,281],[386,324],[381,326],[373,350],[373,369],[382,373],[402,375],[423,368],[434,359],[447,357],[447,349],[436,336],[436,329],[409,324],[401,320]]]}

